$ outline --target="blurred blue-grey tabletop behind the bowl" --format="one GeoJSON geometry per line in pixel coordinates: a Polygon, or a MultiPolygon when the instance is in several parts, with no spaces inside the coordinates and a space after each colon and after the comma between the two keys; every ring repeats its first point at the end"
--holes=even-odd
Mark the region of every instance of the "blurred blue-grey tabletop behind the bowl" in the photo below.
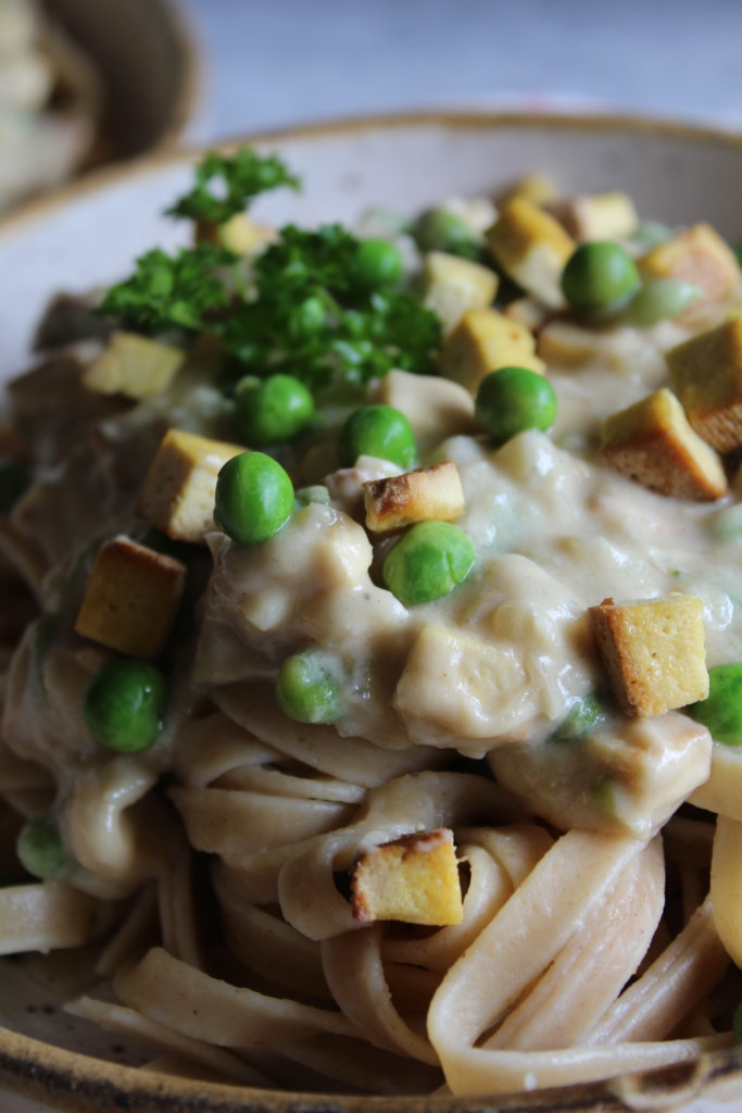
{"type": "Polygon", "coordinates": [[[622,109],[742,126],[742,0],[179,0],[206,141],[434,106],[622,109]]]}

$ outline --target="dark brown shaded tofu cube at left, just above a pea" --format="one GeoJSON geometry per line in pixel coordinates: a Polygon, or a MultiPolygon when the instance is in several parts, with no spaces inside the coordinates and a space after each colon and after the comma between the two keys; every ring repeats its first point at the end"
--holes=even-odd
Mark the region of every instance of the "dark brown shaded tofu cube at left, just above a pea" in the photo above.
{"type": "Polygon", "coordinates": [[[186,565],[130,538],[100,549],[75,623],[77,633],[128,657],[156,658],[172,628],[186,565]]]}

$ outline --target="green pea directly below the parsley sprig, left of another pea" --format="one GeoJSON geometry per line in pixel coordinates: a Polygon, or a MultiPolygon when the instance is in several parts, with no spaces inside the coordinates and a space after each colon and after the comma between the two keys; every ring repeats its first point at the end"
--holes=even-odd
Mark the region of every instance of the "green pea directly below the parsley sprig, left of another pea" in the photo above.
{"type": "Polygon", "coordinates": [[[293,441],[315,412],[311,392],[294,375],[248,375],[235,390],[235,421],[246,444],[263,447],[293,441]]]}

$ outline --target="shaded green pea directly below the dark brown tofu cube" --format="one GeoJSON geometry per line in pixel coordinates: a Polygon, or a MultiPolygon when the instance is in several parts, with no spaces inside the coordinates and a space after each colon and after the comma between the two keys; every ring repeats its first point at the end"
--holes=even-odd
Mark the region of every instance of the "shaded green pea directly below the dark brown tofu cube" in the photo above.
{"type": "Polygon", "coordinates": [[[136,754],[157,741],[165,720],[167,682],[159,669],[118,657],[98,672],[85,695],[85,719],[107,750],[136,754]]]}

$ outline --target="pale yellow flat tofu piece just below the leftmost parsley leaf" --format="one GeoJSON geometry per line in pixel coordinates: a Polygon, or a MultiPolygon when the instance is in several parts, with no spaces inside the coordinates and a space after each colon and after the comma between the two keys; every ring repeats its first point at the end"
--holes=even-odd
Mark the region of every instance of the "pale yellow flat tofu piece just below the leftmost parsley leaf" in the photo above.
{"type": "Polygon", "coordinates": [[[113,333],[86,368],[82,382],[100,394],[150,398],[167,390],[185,359],[180,348],[135,333],[113,333]]]}

